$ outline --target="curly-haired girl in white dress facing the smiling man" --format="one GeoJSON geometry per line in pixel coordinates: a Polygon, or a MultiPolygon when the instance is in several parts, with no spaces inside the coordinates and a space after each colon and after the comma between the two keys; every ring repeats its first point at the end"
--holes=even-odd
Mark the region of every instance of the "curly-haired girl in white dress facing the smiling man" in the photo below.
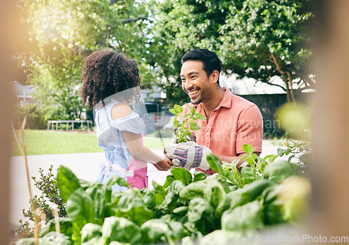
{"type": "MultiPolygon", "coordinates": [[[[132,187],[147,188],[147,162],[168,170],[170,159],[144,147],[144,121],[131,110],[140,100],[140,77],[133,59],[110,50],[100,50],[84,59],[82,104],[94,107],[98,146],[105,150],[98,180],[124,177],[132,187]]],[[[112,186],[113,191],[126,187],[112,186]]]]}

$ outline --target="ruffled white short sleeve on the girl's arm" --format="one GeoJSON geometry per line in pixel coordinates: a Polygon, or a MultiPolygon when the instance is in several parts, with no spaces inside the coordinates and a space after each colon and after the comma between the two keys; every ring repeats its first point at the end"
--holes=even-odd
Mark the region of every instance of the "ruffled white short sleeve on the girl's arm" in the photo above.
{"type": "Polygon", "coordinates": [[[126,117],[118,118],[112,122],[112,127],[119,131],[128,131],[131,133],[142,133],[145,128],[143,119],[135,112],[126,117]]]}

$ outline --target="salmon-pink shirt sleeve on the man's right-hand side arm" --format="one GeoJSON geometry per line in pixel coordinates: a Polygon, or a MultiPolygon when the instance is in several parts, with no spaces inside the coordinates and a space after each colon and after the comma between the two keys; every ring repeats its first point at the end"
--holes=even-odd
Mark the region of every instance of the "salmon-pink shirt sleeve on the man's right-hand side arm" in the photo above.
{"type": "Polygon", "coordinates": [[[239,117],[237,127],[237,154],[242,154],[242,146],[251,144],[255,151],[262,152],[263,140],[263,120],[262,114],[257,105],[248,107],[248,109],[239,117]]]}

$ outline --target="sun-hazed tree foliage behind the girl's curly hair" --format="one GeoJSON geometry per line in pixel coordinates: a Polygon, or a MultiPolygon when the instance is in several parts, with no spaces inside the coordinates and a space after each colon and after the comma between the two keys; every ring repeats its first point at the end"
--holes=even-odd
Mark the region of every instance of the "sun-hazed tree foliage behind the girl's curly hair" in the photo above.
{"type": "Polygon", "coordinates": [[[142,85],[155,81],[146,63],[151,1],[23,0],[17,3],[27,31],[15,44],[47,117],[80,117],[82,59],[110,48],[136,60],[142,85]],[[54,105],[54,106],[52,106],[54,105]],[[54,115],[53,115],[54,114],[54,115]]]}

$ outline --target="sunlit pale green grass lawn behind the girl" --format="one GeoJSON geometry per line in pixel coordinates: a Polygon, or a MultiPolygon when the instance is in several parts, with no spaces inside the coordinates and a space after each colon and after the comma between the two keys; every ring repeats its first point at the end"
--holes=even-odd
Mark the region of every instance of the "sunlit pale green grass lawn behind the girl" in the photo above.
{"type": "MultiPolygon", "coordinates": [[[[18,131],[15,131],[18,135],[18,131]]],[[[163,143],[168,144],[171,138],[163,138],[163,143]]],[[[144,145],[149,149],[163,149],[160,138],[144,137],[144,145]]],[[[27,155],[45,154],[70,154],[102,152],[98,147],[95,133],[77,133],[66,131],[25,130],[24,143],[27,155]]],[[[21,156],[20,149],[13,136],[13,154],[21,156]]]]}

